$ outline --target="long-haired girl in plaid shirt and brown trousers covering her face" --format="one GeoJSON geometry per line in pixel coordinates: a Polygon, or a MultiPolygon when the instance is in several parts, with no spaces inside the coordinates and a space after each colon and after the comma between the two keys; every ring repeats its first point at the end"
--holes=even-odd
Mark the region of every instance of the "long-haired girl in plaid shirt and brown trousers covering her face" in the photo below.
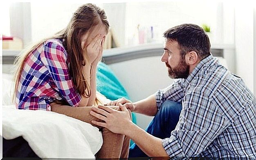
{"type": "MultiPolygon", "coordinates": [[[[16,107],[54,111],[91,123],[91,106],[100,102],[96,69],[108,29],[105,11],[84,4],[65,29],[24,51],[15,63],[16,107]]],[[[128,157],[128,138],[99,129],[103,146],[97,158],[128,157]]]]}

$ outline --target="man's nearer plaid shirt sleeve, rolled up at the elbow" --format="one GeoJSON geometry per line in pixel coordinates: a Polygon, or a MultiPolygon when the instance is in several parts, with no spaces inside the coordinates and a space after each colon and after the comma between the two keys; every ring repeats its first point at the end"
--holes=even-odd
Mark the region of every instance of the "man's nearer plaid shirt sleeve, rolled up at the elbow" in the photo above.
{"type": "Polygon", "coordinates": [[[206,149],[229,125],[229,121],[203,93],[184,97],[180,120],[162,145],[170,157],[194,157],[206,149]]]}

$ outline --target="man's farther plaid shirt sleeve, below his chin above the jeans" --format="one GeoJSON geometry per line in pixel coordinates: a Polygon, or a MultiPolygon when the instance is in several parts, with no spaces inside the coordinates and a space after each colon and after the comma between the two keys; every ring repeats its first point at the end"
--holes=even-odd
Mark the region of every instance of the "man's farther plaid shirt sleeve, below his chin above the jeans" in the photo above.
{"type": "Polygon", "coordinates": [[[172,85],[165,89],[160,89],[155,93],[155,99],[157,102],[157,109],[161,107],[161,104],[165,100],[173,100],[175,102],[182,102],[184,96],[183,80],[179,79],[173,82],[172,85]]]}

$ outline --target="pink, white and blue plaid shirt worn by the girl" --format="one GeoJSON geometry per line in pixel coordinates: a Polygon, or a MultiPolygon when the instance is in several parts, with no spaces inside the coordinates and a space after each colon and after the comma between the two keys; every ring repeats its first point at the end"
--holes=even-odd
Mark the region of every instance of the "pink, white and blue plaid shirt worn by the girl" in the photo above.
{"type": "Polygon", "coordinates": [[[81,95],[75,89],[68,64],[67,51],[59,39],[47,40],[29,53],[18,84],[16,108],[50,111],[50,103],[56,100],[78,106],[81,95]]]}

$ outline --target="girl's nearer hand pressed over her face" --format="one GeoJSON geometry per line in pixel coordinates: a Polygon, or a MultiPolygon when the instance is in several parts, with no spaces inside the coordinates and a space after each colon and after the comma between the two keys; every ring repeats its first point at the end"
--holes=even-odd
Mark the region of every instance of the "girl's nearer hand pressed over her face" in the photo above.
{"type": "Polygon", "coordinates": [[[99,58],[99,55],[102,55],[101,53],[101,44],[102,44],[103,38],[100,34],[97,34],[92,41],[86,45],[85,42],[82,42],[82,49],[83,49],[83,55],[85,58],[88,58],[89,64],[92,64],[97,58],[99,58]]]}

